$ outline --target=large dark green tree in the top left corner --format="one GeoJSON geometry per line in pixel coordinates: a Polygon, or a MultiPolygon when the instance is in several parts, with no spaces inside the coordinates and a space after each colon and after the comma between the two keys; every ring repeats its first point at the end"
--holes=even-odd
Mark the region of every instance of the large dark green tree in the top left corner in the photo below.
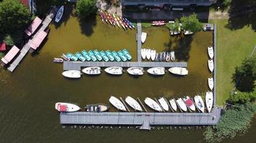
{"type": "Polygon", "coordinates": [[[4,34],[23,29],[30,18],[29,9],[19,0],[4,0],[0,3],[0,25],[4,34]]]}

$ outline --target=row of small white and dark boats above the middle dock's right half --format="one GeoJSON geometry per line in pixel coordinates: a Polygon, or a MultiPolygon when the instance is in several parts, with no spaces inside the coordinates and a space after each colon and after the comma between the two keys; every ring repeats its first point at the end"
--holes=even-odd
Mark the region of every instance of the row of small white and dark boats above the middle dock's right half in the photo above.
{"type": "Polygon", "coordinates": [[[157,53],[155,49],[142,49],[141,50],[142,59],[152,60],[152,61],[175,61],[174,51],[162,51],[157,53]]]}

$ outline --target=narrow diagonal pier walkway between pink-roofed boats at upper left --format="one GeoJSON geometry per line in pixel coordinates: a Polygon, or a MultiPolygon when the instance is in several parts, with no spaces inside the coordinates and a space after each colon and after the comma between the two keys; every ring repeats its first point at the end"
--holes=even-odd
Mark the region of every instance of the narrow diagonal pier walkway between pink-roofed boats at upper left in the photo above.
{"type": "Polygon", "coordinates": [[[37,34],[39,34],[40,31],[45,31],[45,29],[47,29],[47,26],[50,24],[54,16],[55,16],[55,11],[52,10],[50,14],[48,14],[45,20],[42,22],[42,26],[37,31],[37,33],[33,36],[32,39],[29,39],[27,44],[24,44],[24,46],[22,47],[22,50],[20,51],[19,56],[17,56],[17,58],[12,62],[12,64],[10,64],[10,66],[7,68],[9,71],[14,71],[14,69],[16,69],[16,67],[19,65],[19,62],[22,61],[24,56],[26,56],[27,52],[29,51],[30,49],[29,43],[34,41],[35,38],[37,38],[37,34]]]}

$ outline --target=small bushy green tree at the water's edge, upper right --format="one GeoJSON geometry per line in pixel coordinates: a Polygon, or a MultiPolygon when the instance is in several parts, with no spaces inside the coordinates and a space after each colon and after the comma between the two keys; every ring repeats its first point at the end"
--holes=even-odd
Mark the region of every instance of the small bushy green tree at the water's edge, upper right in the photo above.
{"type": "Polygon", "coordinates": [[[196,16],[196,14],[191,14],[190,16],[181,17],[180,21],[184,30],[196,32],[202,29],[203,24],[198,21],[196,16]]]}

